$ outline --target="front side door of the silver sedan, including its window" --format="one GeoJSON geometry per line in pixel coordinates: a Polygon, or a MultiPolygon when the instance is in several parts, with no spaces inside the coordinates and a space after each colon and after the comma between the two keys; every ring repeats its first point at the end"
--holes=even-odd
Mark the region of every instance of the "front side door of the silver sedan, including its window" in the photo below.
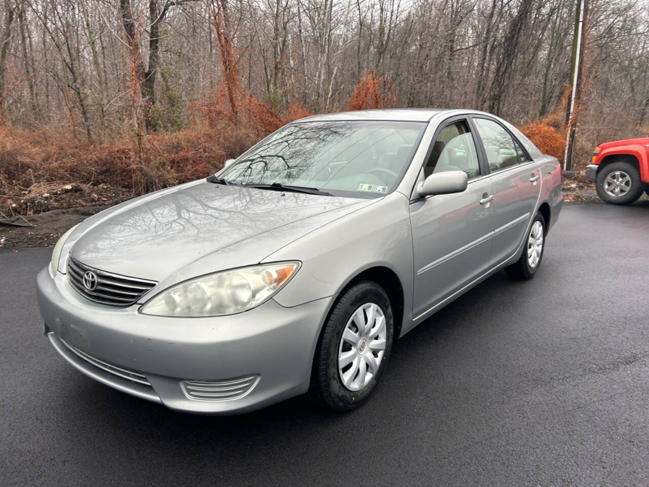
{"type": "Polygon", "coordinates": [[[494,229],[493,190],[478,163],[475,134],[465,118],[438,132],[422,177],[441,171],[465,171],[467,189],[411,201],[415,256],[413,316],[434,308],[484,273],[489,266],[494,229]]]}

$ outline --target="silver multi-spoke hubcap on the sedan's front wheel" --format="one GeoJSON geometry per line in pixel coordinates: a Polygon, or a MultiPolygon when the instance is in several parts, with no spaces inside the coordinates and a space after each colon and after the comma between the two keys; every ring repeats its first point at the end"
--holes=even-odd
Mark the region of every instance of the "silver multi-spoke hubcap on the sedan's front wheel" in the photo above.
{"type": "Polygon", "coordinates": [[[386,317],[374,303],[360,306],[347,321],[338,347],[338,373],[350,391],[369,384],[386,351],[386,317]]]}

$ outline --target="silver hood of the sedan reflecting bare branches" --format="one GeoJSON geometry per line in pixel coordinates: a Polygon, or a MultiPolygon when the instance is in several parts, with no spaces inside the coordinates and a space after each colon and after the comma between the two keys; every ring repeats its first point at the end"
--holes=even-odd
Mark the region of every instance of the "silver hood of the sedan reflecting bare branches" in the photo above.
{"type": "Polygon", "coordinates": [[[71,255],[112,273],[180,281],[256,264],[373,201],[199,182],[98,214],[71,255]]]}

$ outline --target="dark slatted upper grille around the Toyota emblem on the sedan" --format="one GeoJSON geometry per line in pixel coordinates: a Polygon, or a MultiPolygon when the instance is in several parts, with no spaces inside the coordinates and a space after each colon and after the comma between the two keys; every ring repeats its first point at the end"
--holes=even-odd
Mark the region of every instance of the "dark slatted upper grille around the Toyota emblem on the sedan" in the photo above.
{"type": "Polygon", "coordinates": [[[67,279],[77,292],[91,301],[113,306],[130,306],[158,284],[155,281],[100,271],[81,264],[72,257],[67,259],[67,279]],[[96,277],[97,287],[93,290],[84,285],[84,274],[86,272],[92,272],[96,277]]]}

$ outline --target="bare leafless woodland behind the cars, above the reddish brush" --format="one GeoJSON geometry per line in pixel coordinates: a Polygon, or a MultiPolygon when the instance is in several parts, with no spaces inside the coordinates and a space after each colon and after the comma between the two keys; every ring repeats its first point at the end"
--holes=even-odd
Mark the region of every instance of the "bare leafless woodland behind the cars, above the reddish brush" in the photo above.
{"type": "MultiPolygon", "coordinates": [[[[576,16],[576,0],[2,1],[3,118],[87,140],[132,134],[134,113],[142,136],[200,123],[191,107],[218,94],[238,123],[244,91],[277,113],[341,109],[368,69],[399,105],[546,118],[565,110],[576,16]]],[[[643,134],[649,110],[646,3],[589,4],[585,154],[643,134]]]]}

